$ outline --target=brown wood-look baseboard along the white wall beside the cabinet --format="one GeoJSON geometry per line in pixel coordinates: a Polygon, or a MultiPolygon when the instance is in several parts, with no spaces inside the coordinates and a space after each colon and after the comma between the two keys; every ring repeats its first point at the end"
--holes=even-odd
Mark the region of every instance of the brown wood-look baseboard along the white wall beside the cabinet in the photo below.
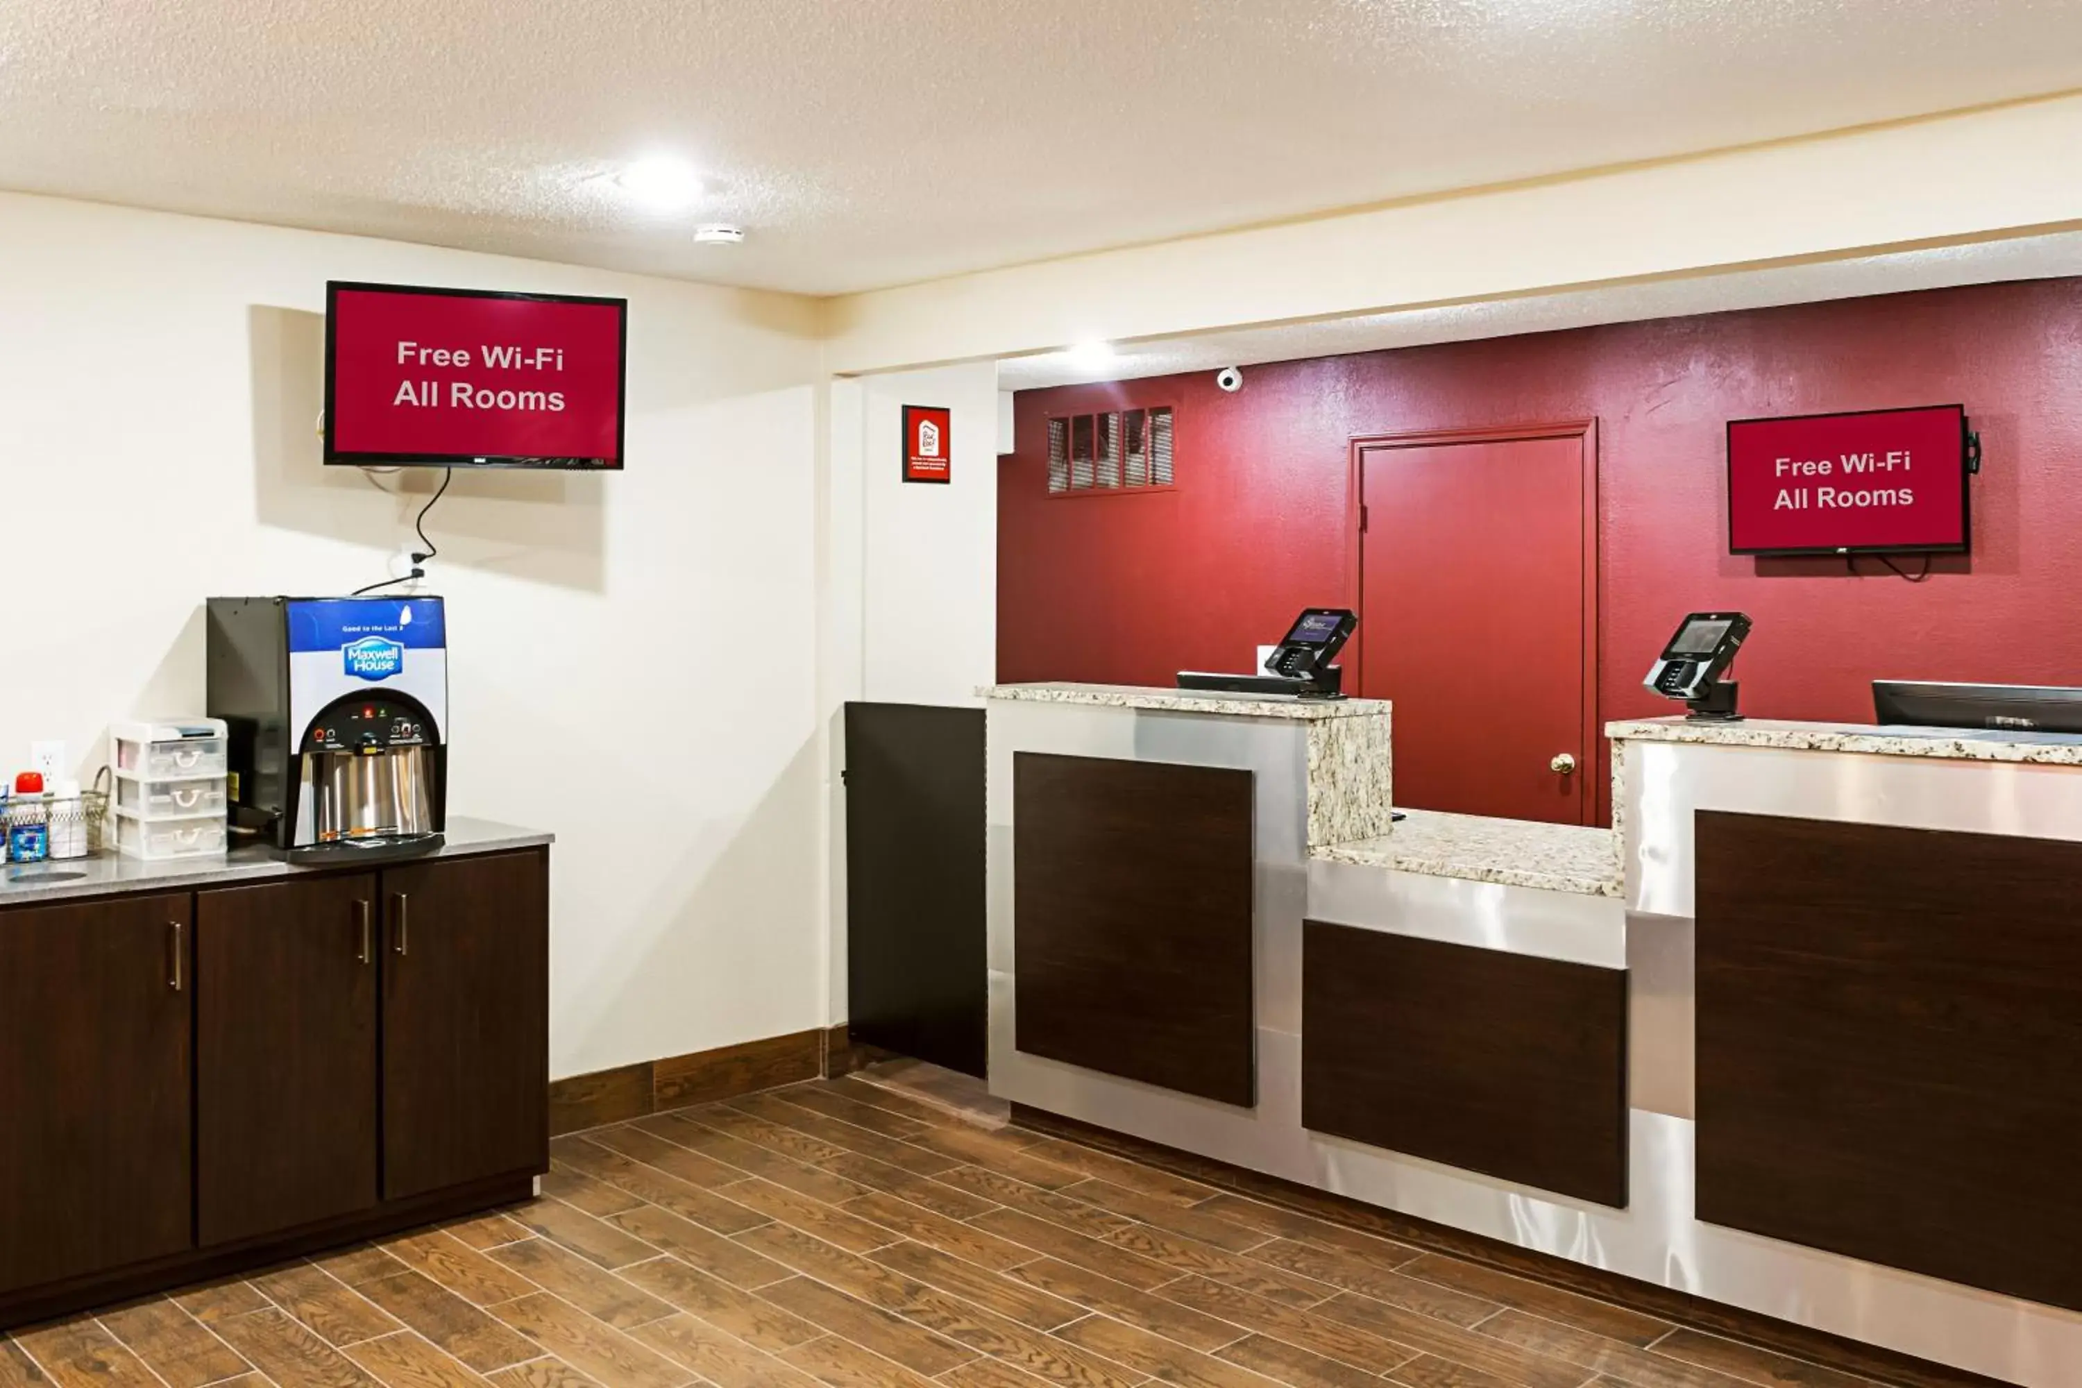
{"type": "Polygon", "coordinates": [[[841,1022],[833,1028],[575,1074],[550,1082],[550,1134],[623,1124],[664,1109],[849,1074],[874,1055],[879,1053],[872,1047],[854,1047],[841,1022]]]}

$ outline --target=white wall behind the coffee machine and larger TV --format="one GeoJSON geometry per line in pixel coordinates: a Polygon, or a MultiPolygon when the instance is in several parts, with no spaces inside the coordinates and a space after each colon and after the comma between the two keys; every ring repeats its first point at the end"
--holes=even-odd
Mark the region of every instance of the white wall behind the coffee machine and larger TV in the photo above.
{"type": "Polygon", "coordinates": [[[822,1026],[806,300],[0,196],[0,764],[200,712],[204,597],[396,572],[437,474],[321,468],[329,277],[631,300],[629,470],[429,518],[450,807],[558,834],[552,1074],[822,1026]]]}

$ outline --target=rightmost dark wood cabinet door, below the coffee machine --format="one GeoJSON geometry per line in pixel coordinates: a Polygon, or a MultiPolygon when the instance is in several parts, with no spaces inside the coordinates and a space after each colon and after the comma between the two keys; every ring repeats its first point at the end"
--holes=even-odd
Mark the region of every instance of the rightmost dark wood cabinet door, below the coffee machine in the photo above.
{"type": "Polygon", "coordinates": [[[550,1165],[550,855],[383,872],[383,1194],[550,1165]]]}

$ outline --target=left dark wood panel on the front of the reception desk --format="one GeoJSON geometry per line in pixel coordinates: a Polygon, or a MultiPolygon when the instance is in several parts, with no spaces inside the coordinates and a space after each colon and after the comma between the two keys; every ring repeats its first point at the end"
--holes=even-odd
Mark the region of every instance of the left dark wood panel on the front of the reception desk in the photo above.
{"type": "Polygon", "coordinates": [[[1016,1045],[1251,1105],[1251,772],[1012,757],[1016,1045]]]}

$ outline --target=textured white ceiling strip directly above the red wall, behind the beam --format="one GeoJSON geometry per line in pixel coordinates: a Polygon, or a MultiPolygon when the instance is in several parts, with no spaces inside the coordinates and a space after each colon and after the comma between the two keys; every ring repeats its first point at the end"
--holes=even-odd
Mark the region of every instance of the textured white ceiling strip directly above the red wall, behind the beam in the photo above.
{"type": "Polygon", "coordinates": [[[2082,275],[2082,233],[1978,241],[1938,250],[1861,256],[1824,264],[1791,264],[1728,275],[1659,279],[1632,285],[1572,289],[1518,300],[1410,308],[1387,314],[1355,314],[1312,323],[1245,327],[1197,337],[1164,337],[1114,343],[1112,356],[1083,352],[1041,352],[997,362],[997,389],[1031,391],[1078,381],[1133,381],[1170,377],[1185,370],[1220,370],[1253,362],[1295,362],[1312,356],[1416,348],[1432,341],[1512,337],[1593,327],[1597,323],[1639,323],[1736,308],[1816,304],[1907,289],[1945,289],[2005,279],[2055,279],[2082,275]]]}

